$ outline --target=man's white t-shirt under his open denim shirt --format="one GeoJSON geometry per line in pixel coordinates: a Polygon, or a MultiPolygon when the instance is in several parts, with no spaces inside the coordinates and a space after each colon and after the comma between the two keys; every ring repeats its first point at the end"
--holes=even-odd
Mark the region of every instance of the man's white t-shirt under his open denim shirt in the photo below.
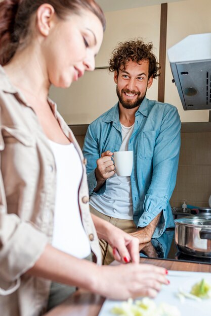
{"type": "MultiPolygon", "coordinates": [[[[133,129],[134,124],[130,127],[121,124],[122,143],[119,151],[128,150],[133,129]]],[[[133,220],[131,177],[120,177],[114,174],[106,180],[105,192],[92,195],[90,204],[104,215],[122,220],[133,220]]]]}

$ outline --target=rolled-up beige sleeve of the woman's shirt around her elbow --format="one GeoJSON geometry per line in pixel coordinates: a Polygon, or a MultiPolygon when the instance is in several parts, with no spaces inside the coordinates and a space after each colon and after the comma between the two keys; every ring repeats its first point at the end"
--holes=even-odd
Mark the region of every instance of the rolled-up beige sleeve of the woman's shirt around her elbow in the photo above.
{"type": "MultiPolygon", "coordinates": [[[[4,149],[0,133],[1,151],[4,149]]],[[[20,285],[20,276],[33,267],[47,244],[47,236],[32,224],[7,213],[2,173],[0,173],[0,294],[8,295],[20,285]]]]}

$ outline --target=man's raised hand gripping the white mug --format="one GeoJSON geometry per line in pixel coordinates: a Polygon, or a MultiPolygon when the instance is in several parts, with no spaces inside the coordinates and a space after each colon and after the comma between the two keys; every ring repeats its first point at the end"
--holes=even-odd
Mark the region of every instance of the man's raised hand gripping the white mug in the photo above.
{"type": "Polygon", "coordinates": [[[97,168],[95,169],[95,177],[97,180],[97,186],[94,192],[97,192],[103,183],[115,174],[115,166],[111,156],[113,152],[107,150],[101,154],[101,158],[97,160],[97,168]]]}

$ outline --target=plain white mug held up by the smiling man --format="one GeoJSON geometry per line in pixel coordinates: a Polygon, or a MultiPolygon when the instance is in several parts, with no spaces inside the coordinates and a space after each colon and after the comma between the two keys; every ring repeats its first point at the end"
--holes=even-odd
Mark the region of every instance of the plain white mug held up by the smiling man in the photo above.
{"type": "Polygon", "coordinates": [[[133,169],[133,151],[114,151],[113,156],[117,176],[130,176],[133,169]]]}

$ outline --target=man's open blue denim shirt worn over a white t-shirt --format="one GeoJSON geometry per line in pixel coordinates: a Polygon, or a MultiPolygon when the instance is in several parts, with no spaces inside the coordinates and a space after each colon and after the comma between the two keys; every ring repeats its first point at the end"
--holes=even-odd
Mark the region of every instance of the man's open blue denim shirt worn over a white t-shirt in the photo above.
{"type": "MultiPolygon", "coordinates": [[[[134,151],[131,174],[133,218],[137,227],[147,226],[160,212],[153,234],[158,238],[165,228],[173,227],[169,203],[176,184],[180,153],[181,122],[177,108],[168,103],[142,101],[135,114],[135,126],[128,150],[134,151]]],[[[95,169],[102,152],[118,151],[122,142],[118,103],[90,124],[83,154],[87,159],[89,193],[102,194],[106,181],[97,193],[95,169]]]]}

